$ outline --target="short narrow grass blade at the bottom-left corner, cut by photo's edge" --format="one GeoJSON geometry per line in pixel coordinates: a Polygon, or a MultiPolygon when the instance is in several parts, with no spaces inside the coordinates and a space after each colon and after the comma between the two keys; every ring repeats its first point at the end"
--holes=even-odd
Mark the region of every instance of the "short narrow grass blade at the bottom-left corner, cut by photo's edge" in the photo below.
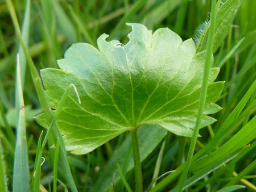
{"type": "Polygon", "coordinates": [[[0,132],[0,189],[2,192],[7,192],[7,177],[5,156],[3,156],[2,133],[0,132]]]}

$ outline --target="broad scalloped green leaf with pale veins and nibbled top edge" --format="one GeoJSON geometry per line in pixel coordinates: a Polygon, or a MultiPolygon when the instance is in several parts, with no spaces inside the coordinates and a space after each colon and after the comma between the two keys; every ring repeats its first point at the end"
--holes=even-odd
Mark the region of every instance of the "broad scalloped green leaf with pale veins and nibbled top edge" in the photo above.
{"type": "MultiPolygon", "coordinates": [[[[106,41],[98,49],[73,44],[59,60],[61,69],[43,69],[41,75],[52,108],[71,83],[70,94],[57,122],[68,151],[84,154],[124,131],[154,124],[176,135],[192,136],[195,127],[205,52],[196,54],[192,39],[182,41],[168,28],[152,34],[142,24],[130,23],[129,43],[106,41]]],[[[218,68],[210,70],[207,102],[201,127],[215,119],[214,104],[223,82],[213,82],[218,68]]],[[[42,119],[42,118],[41,118],[42,119]]],[[[40,118],[38,119],[39,123],[40,118]]]]}

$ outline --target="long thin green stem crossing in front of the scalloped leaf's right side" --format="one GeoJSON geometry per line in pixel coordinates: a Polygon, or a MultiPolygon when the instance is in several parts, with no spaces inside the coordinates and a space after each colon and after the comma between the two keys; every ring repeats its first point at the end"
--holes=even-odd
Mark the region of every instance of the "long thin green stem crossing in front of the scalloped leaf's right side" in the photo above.
{"type": "MultiPolygon", "coordinates": [[[[218,4],[219,5],[219,4],[218,4]]],[[[217,6],[218,6],[217,5],[217,6]]],[[[199,134],[199,128],[201,125],[201,120],[203,117],[204,105],[205,100],[207,98],[207,87],[208,87],[208,80],[210,74],[210,66],[212,64],[212,51],[213,51],[213,39],[214,39],[214,25],[216,20],[216,1],[212,0],[212,10],[211,10],[211,18],[210,18],[210,29],[209,29],[209,37],[207,42],[207,53],[205,57],[205,66],[204,66],[204,75],[203,75],[203,82],[201,86],[201,93],[200,93],[200,101],[199,101],[199,110],[197,113],[196,125],[193,131],[193,135],[191,138],[191,143],[189,145],[188,157],[187,161],[185,162],[185,168],[181,175],[180,182],[179,182],[179,189],[178,192],[181,192],[183,189],[184,182],[187,178],[188,170],[192,162],[193,153],[195,151],[196,140],[199,134]]]]}

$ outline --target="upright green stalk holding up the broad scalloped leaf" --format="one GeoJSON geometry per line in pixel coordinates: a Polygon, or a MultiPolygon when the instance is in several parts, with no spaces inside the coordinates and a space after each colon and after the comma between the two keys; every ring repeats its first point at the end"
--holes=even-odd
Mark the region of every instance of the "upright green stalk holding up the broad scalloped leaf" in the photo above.
{"type": "Polygon", "coordinates": [[[133,158],[134,158],[134,171],[135,171],[135,191],[143,191],[142,171],[141,171],[141,157],[139,155],[139,141],[138,141],[138,128],[131,130],[131,139],[133,140],[133,158]]]}

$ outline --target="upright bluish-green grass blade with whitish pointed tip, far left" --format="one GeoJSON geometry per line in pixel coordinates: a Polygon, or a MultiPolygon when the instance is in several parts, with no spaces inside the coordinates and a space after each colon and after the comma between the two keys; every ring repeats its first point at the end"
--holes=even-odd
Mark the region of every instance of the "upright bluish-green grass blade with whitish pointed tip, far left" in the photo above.
{"type": "MultiPolygon", "coordinates": [[[[19,57],[18,57],[19,58],[19,57]]],[[[28,149],[26,136],[25,107],[22,94],[19,59],[17,59],[17,77],[19,95],[19,122],[16,134],[16,147],[14,156],[13,192],[30,192],[30,169],[28,164],[28,149]]]]}

